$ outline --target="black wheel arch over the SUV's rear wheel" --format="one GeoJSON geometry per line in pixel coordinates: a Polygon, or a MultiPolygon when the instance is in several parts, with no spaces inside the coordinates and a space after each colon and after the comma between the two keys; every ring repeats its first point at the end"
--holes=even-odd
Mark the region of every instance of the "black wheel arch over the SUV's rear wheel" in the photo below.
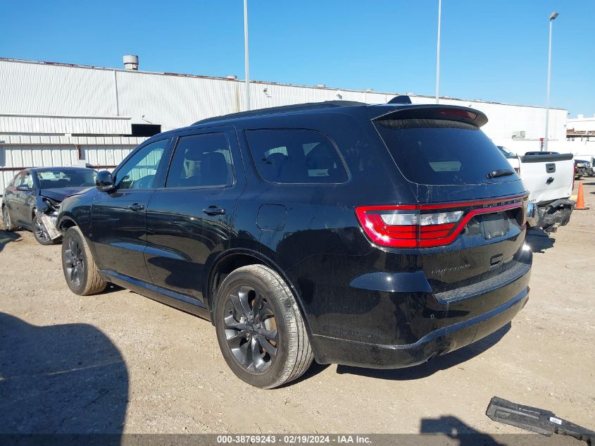
{"type": "Polygon", "coordinates": [[[308,314],[306,313],[306,309],[304,308],[303,302],[301,301],[299,290],[294,285],[293,281],[286,273],[284,273],[283,269],[277,265],[275,261],[270,259],[270,257],[265,256],[261,252],[245,248],[232,249],[220,254],[220,256],[218,256],[218,258],[213,261],[211,268],[209,268],[203,296],[205,297],[205,304],[211,316],[211,323],[213,323],[213,325],[215,323],[213,309],[215,308],[215,294],[217,292],[218,285],[220,285],[220,283],[225,280],[225,277],[227,277],[227,275],[235,269],[242,266],[258,264],[268,266],[273,271],[275,271],[275,273],[279,274],[285,283],[287,283],[289,289],[292,290],[294,299],[296,299],[299,311],[301,312],[303,321],[306,324],[308,335],[312,336],[308,314]]]}

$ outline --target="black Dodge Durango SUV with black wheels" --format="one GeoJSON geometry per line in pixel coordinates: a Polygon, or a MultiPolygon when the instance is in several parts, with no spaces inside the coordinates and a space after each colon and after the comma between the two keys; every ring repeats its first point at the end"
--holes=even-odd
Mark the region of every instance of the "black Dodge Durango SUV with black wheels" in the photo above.
{"type": "Polygon", "coordinates": [[[527,302],[527,191],[456,106],[325,102],[151,137],[62,203],[78,295],[115,283],[215,325],[247,383],[398,368],[527,302]]]}

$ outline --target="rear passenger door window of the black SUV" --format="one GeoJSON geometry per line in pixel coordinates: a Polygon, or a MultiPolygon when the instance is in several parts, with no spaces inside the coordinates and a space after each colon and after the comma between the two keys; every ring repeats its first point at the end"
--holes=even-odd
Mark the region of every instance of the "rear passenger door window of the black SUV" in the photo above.
{"type": "Polygon", "coordinates": [[[232,180],[232,154],[225,133],[180,137],[165,187],[228,186],[232,180]]]}

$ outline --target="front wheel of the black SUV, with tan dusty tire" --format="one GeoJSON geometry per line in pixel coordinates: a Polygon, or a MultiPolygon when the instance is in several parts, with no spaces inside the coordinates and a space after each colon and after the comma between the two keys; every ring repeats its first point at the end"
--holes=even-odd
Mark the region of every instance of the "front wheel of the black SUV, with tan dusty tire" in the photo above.
{"type": "Polygon", "coordinates": [[[99,277],[93,254],[77,226],[68,228],[63,237],[62,271],[75,295],[93,295],[106,289],[107,283],[99,277]]]}

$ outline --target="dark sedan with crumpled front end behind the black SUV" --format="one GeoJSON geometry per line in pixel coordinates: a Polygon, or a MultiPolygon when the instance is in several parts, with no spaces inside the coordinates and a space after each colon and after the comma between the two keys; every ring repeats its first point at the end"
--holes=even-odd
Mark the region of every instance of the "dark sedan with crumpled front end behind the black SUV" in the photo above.
{"type": "Polygon", "coordinates": [[[20,171],[8,183],[2,199],[5,230],[32,230],[41,244],[53,244],[61,234],[54,223],[58,206],[69,195],[95,185],[96,171],[80,167],[44,167],[20,171]]]}

